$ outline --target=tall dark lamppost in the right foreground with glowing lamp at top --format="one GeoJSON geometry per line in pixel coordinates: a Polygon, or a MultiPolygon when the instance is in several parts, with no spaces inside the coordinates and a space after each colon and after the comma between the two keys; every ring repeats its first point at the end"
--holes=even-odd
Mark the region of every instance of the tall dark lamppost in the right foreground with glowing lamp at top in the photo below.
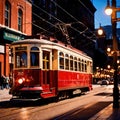
{"type": "Polygon", "coordinates": [[[118,43],[116,37],[116,25],[120,18],[117,18],[117,12],[120,11],[120,8],[116,8],[116,0],[112,0],[112,7],[110,7],[109,0],[107,1],[108,5],[106,7],[106,12],[111,13],[111,23],[112,23],[112,37],[113,37],[113,65],[114,65],[114,88],[113,88],[113,108],[119,108],[119,88],[118,88],[118,43]],[[109,9],[108,9],[109,8],[109,9]]]}

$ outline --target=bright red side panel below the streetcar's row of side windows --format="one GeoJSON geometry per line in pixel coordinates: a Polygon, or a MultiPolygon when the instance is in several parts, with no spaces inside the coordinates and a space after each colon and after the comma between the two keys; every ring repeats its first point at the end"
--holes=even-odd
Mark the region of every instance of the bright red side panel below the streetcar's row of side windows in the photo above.
{"type": "Polygon", "coordinates": [[[92,74],[58,71],[59,90],[84,87],[92,89],[92,74]]]}

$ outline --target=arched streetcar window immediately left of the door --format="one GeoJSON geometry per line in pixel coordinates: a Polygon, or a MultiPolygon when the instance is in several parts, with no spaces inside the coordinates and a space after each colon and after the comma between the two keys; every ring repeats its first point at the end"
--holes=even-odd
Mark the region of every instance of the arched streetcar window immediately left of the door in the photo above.
{"type": "Polygon", "coordinates": [[[39,48],[32,47],[30,51],[30,65],[39,66],[39,48]]]}

